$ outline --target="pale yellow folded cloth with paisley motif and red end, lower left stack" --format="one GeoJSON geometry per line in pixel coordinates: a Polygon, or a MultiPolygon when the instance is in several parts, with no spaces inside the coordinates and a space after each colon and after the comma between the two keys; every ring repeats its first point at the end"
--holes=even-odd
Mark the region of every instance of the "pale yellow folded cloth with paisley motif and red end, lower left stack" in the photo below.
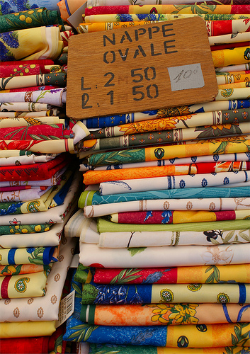
{"type": "Polygon", "coordinates": [[[45,296],[47,271],[0,277],[0,299],[45,296]]]}

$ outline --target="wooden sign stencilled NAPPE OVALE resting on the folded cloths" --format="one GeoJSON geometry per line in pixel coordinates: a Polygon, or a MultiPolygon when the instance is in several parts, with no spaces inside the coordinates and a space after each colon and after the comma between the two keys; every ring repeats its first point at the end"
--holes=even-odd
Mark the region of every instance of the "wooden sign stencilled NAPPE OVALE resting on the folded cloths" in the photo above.
{"type": "Polygon", "coordinates": [[[217,81],[200,17],[69,39],[67,115],[91,118],[212,101],[217,81]]]}

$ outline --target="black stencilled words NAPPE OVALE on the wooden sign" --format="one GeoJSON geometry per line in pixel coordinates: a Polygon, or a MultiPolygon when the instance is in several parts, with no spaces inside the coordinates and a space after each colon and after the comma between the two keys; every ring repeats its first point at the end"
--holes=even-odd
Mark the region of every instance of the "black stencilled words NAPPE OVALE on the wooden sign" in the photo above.
{"type": "Polygon", "coordinates": [[[159,55],[178,52],[178,50],[173,50],[173,48],[176,47],[174,45],[175,40],[173,38],[175,33],[172,32],[173,28],[171,28],[171,25],[173,25],[173,23],[154,25],[148,28],[138,26],[135,28],[134,32],[128,33],[125,30],[125,32],[122,35],[119,35],[119,37],[115,31],[113,31],[113,33],[110,35],[104,34],[103,47],[106,47],[108,50],[103,54],[103,62],[106,64],[112,64],[118,59],[122,59],[123,62],[125,62],[127,58],[136,59],[137,57],[140,58],[147,56],[157,57],[159,55]],[[154,37],[157,33],[157,40],[154,40],[154,37]],[[165,38],[169,39],[166,40],[165,38]],[[152,40],[152,42],[149,42],[150,40],[152,40]],[[127,43],[135,44],[137,42],[137,47],[126,47],[127,43]],[[139,42],[141,44],[139,44],[139,42]],[[122,46],[117,49],[118,46],[116,45],[122,46]]]}

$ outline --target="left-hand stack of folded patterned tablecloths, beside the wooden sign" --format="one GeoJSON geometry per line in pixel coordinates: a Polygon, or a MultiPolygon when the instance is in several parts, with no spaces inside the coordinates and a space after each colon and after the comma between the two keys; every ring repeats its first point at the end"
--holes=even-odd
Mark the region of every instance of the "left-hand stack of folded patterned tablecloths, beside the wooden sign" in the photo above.
{"type": "Polygon", "coordinates": [[[1,4],[1,353],[49,353],[62,343],[59,303],[76,246],[64,225],[82,183],[74,144],[89,134],[65,114],[72,28],[57,11],[30,5],[3,13],[12,4],[1,4]]]}

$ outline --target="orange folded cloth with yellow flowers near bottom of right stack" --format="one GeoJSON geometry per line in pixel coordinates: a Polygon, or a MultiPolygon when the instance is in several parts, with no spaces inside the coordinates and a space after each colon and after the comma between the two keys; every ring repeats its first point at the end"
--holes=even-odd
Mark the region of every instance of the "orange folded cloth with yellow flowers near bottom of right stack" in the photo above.
{"type": "Polygon", "coordinates": [[[83,304],[80,319],[98,326],[196,325],[246,322],[249,314],[249,305],[239,304],[83,304]]]}

